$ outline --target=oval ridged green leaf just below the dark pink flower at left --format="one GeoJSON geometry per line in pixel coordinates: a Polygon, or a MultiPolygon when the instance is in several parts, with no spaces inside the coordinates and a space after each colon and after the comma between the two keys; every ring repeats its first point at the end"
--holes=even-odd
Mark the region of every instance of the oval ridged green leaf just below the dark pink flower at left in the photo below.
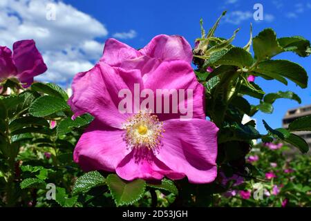
{"type": "Polygon", "coordinates": [[[69,106],[64,99],[46,95],[35,99],[35,102],[30,105],[29,113],[35,117],[45,117],[66,109],[69,109],[69,106]]]}

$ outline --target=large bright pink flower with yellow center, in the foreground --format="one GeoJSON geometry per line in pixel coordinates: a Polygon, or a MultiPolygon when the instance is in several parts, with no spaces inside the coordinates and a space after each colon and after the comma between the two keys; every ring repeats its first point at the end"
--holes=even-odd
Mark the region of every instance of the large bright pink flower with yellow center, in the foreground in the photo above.
{"type": "Polygon", "coordinates": [[[84,171],[115,171],[124,180],[187,176],[191,183],[214,181],[218,128],[205,120],[204,88],[191,60],[191,47],[179,36],[158,35],[141,50],[107,40],[102,59],[73,79],[68,104],[75,117],[82,113],[95,117],[75,147],[75,162],[84,171]],[[139,92],[192,89],[193,118],[181,121],[182,113],[143,110],[120,113],[123,98],[118,93],[128,89],[134,94],[134,84],[139,92]]]}

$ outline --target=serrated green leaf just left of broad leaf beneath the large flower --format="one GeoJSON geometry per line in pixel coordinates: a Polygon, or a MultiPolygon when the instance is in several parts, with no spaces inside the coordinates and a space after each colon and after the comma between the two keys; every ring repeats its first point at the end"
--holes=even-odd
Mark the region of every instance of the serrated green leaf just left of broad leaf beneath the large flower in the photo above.
{"type": "Polygon", "coordinates": [[[105,178],[98,171],[88,172],[77,178],[75,186],[73,187],[73,194],[86,193],[95,186],[102,186],[105,184],[105,178]]]}

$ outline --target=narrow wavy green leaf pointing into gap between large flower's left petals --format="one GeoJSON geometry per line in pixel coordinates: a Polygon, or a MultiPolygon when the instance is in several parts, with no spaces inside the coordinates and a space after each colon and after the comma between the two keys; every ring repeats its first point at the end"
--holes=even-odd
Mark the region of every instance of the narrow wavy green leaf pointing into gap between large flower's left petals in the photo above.
{"type": "Polygon", "coordinates": [[[66,133],[73,131],[73,128],[86,126],[90,124],[93,119],[94,117],[89,114],[77,117],[75,120],[72,120],[70,117],[63,119],[57,126],[57,135],[65,135],[66,133]]]}

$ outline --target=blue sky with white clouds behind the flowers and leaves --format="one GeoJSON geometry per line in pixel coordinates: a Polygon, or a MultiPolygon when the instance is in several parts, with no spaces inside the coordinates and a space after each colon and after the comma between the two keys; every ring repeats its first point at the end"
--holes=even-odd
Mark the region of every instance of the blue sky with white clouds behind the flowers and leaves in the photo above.
{"type": "MultiPolygon", "coordinates": [[[[254,36],[269,27],[276,31],[278,37],[301,35],[311,39],[311,1],[305,0],[1,0],[0,10],[6,12],[0,15],[0,45],[10,46],[17,39],[35,39],[49,67],[48,73],[39,80],[63,85],[69,85],[75,73],[93,66],[100,58],[104,41],[109,37],[117,37],[134,48],[142,48],[158,34],[182,35],[193,45],[194,39],[200,36],[200,18],[204,20],[205,28],[209,29],[223,10],[227,10],[227,15],[220,22],[216,35],[228,38],[236,28],[241,28],[233,42],[236,46],[247,44],[250,22],[254,36]],[[47,3],[57,5],[55,21],[45,19],[47,3]],[[255,3],[263,5],[263,21],[254,21],[252,17],[255,3]]],[[[301,58],[286,52],[276,58],[290,59],[311,73],[310,57],[301,58]]],[[[311,104],[310,87],[301,89],[289,81],[286,88],[277,81],[259,78],[256,83],[267,93],[292,90],[301,97],[302,104],[311,104]]],[[[258,103],[256,99],[249,101],[258,103]]],[[[265,133],[261,119],[266,119],[274,128],[281,127],[285,111],[296,106],[299,104],[291,100],[277,100],[272,115],[255,115],[258,130],[265,133]]]]}

